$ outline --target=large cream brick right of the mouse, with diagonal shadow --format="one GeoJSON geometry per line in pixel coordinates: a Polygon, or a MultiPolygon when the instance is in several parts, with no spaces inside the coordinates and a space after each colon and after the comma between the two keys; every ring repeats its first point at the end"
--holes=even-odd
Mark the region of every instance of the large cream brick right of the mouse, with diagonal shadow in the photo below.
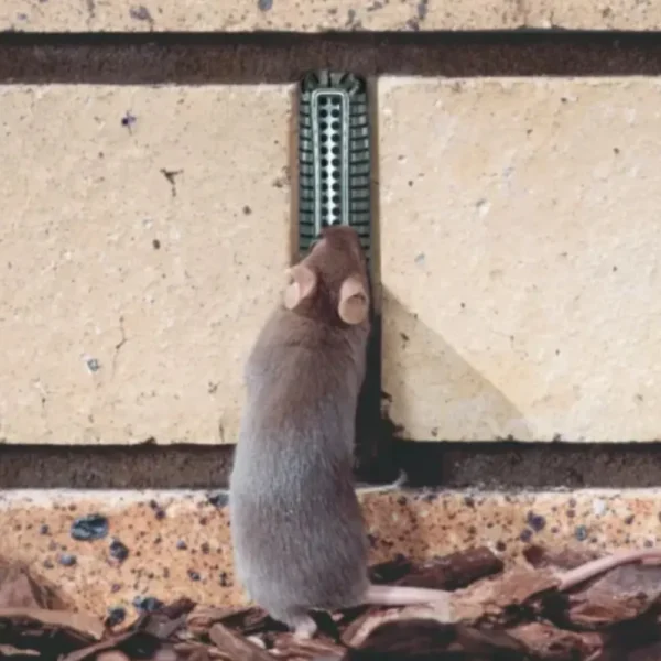
{"type": "Polygon", "coordinates": [[[418,440],[661,434],[661,83],[380,83],[383,389],[418,440]]]}

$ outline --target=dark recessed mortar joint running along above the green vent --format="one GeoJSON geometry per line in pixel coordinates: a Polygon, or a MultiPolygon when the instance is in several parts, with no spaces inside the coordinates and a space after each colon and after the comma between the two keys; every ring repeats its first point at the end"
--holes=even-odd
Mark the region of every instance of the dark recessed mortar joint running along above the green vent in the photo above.
{"type": "Polygon", "coordinates": [[[0,83],[293,83],[361,75],[614,76],[661,73],[658,32],[0,33],[0,83]]]}

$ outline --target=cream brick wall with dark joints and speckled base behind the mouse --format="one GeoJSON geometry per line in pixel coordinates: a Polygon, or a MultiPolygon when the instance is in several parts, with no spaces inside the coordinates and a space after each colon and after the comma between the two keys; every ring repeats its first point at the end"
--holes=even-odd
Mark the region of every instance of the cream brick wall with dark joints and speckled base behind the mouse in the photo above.
{"type": "Polygon", "coordinates": [[[375,104],[400,438],[379,447],[445,488],[364,495],[375,560],[654,542],[657,492],[608,488],[657,484],[661,48],[550,29],[660,22],[628,1],[4,0],[0,554],[97,610],[241,599],[207,489],[292,251],[295,83],[325,66],[375,104]],[[96,511],[118,567],[69,537],[96,511]]]}

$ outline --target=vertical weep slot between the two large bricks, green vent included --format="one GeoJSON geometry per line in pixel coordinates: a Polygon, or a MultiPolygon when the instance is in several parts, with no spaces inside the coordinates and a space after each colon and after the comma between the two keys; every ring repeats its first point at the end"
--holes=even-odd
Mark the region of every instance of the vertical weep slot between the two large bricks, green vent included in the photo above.
{"type": "MultiPolygon", "coordinates": [[[[328,225],[356,229],[373,272],[371,201],[371,127],[367,82],[350,72],[315,71],[299,84],[297,252],[303,257],[328,225]]],[[[373,296],[372,296],[373,299],[373,296]]],[[[368,347],[368,377],[358,403],[356,468],[375,478],[388,464],[379,447],[380,319],[373,314],[368,347]]]]}

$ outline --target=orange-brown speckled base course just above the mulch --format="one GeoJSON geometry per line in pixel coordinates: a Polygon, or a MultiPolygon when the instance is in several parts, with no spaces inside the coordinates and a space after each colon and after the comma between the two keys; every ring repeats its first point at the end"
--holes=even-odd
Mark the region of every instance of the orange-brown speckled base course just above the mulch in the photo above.
{"type": "MultiPolygon", "coordinates": [[[[372,561],[414,559],[489,545],[512,561],[525,544],[610,551],[658,543],[661,490],[538,494],[362,492],[372,561]]],[[[137,597],[180,596],[239,605],[226,498],[191,491],[6,491],[0,495],[0,555],[22,561],[59,586],[79,609],[104,615],[137,597]],[[76,541],[72,523],[108,519],[106,538],[76,541]],[[123,562],[110,554],[119,540],[123,562]]]]}

